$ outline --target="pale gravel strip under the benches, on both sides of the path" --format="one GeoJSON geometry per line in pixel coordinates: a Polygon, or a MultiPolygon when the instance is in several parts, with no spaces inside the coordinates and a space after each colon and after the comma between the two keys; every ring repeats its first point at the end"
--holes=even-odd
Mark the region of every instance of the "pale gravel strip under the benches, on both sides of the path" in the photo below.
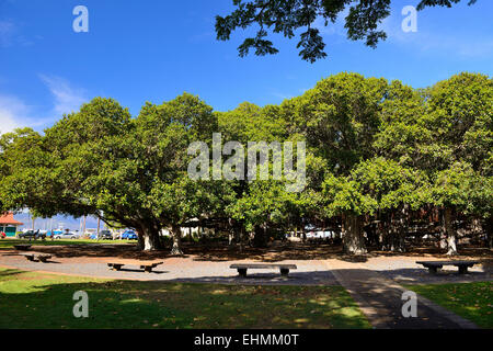
{"type": "MultiPolygon", "coordinates": [[[[67,250],[68,248],[65,248],[67,250]]],[[[47,250],[46,248],[44,249],[47,250]]],[[[73,249],[72,249],[73,250],[73,249]]],[[[80,248],[74,252],[81,253],[80,248]]],[[[58,251],[57,251],[58,252],[58,251]]],[[[111,250],[108,251],[111,252],[111,250]]],[[[291,263],[298,267],[291,270],[288,278],[280,276],[278,270],[249,270],[248,278],[240,278],[236,270],[229,268],[232,263],[260,262],[273,263],[271,260],[214,260],[205,259],[200,256],[191,254],[185,258],[159,258],[152,257],[152,261],[162,261],[163,264],[153,270],[152,273],[142,272],[138,263],[134,260],[99,257],[98,252],[90,254],[71,256],[66,251],[60,254],[53,252],[54,258],[49,263],[30,262],[18,251],[0,251],[0,264],[14,267],[23,270],[44,271],[53,273],[74,274],[84,276],[99,276],[108,279],[167,281],[167,282],[194,282],[194,283],[225,283],[225,284],[280,284],[280,285],[339,285],[337,280],[331,272],[334,269],[352,269],[354,263],[339,259],[286,259],[275,261],[275,263],[291,263]],[[123,271],[110,271],[106,262],[128,261],[123,271]]],[[[462,258],[472,260],[474,258],[462,258]]],[[[429,256],[378,256],[368,257],[359,261],[360,267],[376,271],[385,278],[393,280],[400,284],[428,284],[428,283],[459,283],[492,280],[492,260],[480,258],[482,262],[470,269],[468,274],[458,274],[457,268],[444,267],[438,274],[429,274],[427,269],[416,261],[447,260],[446,258],[434,258],[429,256]]]]}

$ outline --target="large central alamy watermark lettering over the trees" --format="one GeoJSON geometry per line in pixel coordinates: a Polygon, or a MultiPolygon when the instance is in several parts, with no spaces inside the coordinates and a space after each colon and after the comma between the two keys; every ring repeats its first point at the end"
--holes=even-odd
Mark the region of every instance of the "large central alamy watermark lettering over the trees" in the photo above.
{"type": "Polygon", "coordinates": [[[206,143],[195,141],[188,146],[188,155],[197,155],[188,165],[193,180],[279,180],[286,181],[287,192],[301,192],[306,186],[306,144],[296,143],[296,170],[294,169],[293,141],[249,141],[246,154],[239,141],[222,146],[220,133],[213,134],[213,167],[210,150],[206,143]],[[233,155],[231,155],[233,154],[233,155]],[[270,162],[272,155],[272,163],[270,162]],[[222,162],[222,156],[230,156],[222,162]],[[246,157],[245,157],[246,156],[246,157]],[[246,165],[245,165],[246,159],[246,165]],[[272,177],[271,177],[272,169],[272,177]]]}

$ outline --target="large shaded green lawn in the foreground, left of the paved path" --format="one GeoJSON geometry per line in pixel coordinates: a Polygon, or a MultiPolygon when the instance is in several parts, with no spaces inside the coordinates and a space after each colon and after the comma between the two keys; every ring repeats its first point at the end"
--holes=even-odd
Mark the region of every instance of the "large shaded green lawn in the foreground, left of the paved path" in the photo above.
{"type": "Polygon", "coordinates": [[[0,328],[370,328],[341,286],[88,279],[0,269],[0,328]],[[76,318],[73,293],[89,294],[76,318]]]}

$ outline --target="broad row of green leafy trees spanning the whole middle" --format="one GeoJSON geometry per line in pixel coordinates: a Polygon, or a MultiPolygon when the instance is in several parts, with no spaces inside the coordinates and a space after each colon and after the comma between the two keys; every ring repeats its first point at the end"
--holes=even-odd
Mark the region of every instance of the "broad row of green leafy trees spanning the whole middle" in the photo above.
{"type": "Polygon", "coordinates": [[[413,216],[435,211],[452,254],[459,218],[491,223],[492,118],[492,79],[477,73],[421,90],[340,73],[280,105],[245,102],[228,112],[184,93],[131,116],[115,100],[96,98],[44,134],[0,136],[0,205],[42,217],[98,216],[136,229],[147,250],[162,249],[168,228],[174,253],[190,223],[241,242],[246,236],[238,234],[250,234],[254,245],[330,226],[342,231],[348,253],[366,252],[372,226],[376,241],[404,250],[413,216]],[[285,178],[273,177],[192,180],[187,148],[204,141],[211,156],[213,133],[245,148],[306,141],[306,186],[291,193],[285,178]]]}

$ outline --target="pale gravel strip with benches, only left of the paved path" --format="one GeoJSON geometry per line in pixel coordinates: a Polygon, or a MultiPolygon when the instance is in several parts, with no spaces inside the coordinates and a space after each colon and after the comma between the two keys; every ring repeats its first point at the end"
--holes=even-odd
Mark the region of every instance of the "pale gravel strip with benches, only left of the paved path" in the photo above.
{"type": "MultiPolygon", "coordinates": [[[[198,261],[194,257],[169,258],[159,260],[151,273],[139,269],[138,262],[128,261],[122,271],[108,270],[106,262],[122,261],[121,259],[81,259],[53,258],[48,263],[31,262],[15,252],[0,253],[0,264],[22,270],[43,271],[53,273],[74,274],[83,276],[146,280],[165,282],[191,283],[225,283],[225,284],[273,284],[273,285],[337,285],[333,274],[328,271],[323,260],[296,261],[289,260],[276,263],[296,264],[288,278],[283,278],[276,270],[249,270],[246,278],[238,276],[237,270],[230,269],[232,263],[252,262],[246,260],[207,262],[198,261]]],[[[125,261],[125,260],[124,260],[125,261]]]]}

